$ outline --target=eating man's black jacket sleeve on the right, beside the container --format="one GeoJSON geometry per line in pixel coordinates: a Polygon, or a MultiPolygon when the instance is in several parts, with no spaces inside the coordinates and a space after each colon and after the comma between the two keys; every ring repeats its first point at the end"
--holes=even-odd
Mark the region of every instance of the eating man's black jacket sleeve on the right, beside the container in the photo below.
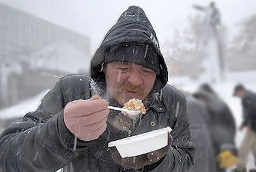
{"type": "Polygon", "coordinates": [[[191,171],[193,167],[194,149],[186,114],[186,100],[180,93],[176,93],[172,103],[168,105],[174,107],[169,119],[169,126],[172,126],[172,147],[153,171],[191,171]]]}

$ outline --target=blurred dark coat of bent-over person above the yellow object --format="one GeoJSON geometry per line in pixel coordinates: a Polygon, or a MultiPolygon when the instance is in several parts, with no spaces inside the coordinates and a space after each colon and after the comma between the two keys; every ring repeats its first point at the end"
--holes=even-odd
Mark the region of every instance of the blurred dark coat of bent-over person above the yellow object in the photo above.
{"type": "Polygon", "coordinates": [[[218,156],[221,148],[227,144],[234,145],[235,147],[235,120],[227,104],[216,93],[202,88],[194,96],[204,96],[207,100],[206,108],[210,115],[208,129],[214,146],[215,156],[218,156]]]}

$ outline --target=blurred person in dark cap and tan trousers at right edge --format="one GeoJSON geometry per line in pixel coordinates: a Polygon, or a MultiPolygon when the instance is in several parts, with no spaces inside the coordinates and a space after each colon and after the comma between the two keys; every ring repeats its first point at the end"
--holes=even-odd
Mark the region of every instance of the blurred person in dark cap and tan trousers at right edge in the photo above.
{"type": "MultiPolygon", "coordinates": [[[[256,94],[245,89],[244,85],[238,84],[234,88],[233,96],[242,100],[243,122],[239,130],[246,129],[244,139],[239,147],[239,161],[234,172],[246,172],[250,151],[254,156],[254,165],[256,167],[256,94]]],[[[256,172],[256,168],[249,171],[256,172]]]]}

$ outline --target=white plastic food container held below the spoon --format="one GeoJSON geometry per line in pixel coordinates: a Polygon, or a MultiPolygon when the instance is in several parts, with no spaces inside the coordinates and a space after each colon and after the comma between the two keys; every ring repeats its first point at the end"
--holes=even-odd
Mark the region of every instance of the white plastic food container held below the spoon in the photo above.
{"type": "Polygon", "coordinates": [[[139,156],[167,146],[168,133],[170,133],[170,131],[172,131],[170,127],[165,127],[136,136],[126,137],[124,139],[111,141],[109,147],[116,146],[122,158],[139,156]]]}

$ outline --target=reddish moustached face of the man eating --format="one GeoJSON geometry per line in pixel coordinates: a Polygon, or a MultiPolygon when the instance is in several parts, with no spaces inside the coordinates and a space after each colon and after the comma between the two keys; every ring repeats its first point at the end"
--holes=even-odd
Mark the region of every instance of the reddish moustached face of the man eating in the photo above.
{"type": "Polygon", "coordinates": [[[156,79],[152,69],[128,62],[107,63],[104,72],[107,91],[122,106],[133,98],[146,99],[156,79]]]}

